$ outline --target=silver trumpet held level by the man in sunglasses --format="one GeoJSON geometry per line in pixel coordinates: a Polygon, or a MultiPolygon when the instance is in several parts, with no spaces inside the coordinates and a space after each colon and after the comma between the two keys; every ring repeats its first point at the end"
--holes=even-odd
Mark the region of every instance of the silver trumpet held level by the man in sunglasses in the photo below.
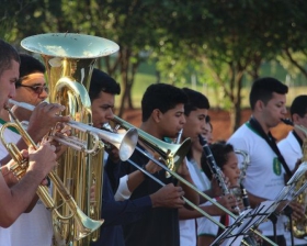
{"type": "MultiPolygon", "coordinates": [[[[9,99],[8,102],[30,111],[33,111],[35,109],[35,107],[32,104],[25,102],[18,102],[12,99],[9,99]]],[[[93,147],[91,149],[88,149],[87,143],[81,142],[76,137],[66,136],[64,134],[50,135],[49,137],[64,145],[72,147],[76,150],[86,152],[87,154],[95,153],[96,149],[100,147],[100,143],[101,143],[100,139],[103,139],[104,142],[114,145],[118,149],[118,155],[121,160],[125,161],[134,153],[138,139],[138,133],[136,128],[129,128],[125,134],[117,134],[117,133],[111,133],[109,131],[99,130],[93,126],[73,120],[70,120],[66,124],[72,128],[76,128],[78,131],[81,131],[83,133],[93,136],[94,137],[93,147]]]]}

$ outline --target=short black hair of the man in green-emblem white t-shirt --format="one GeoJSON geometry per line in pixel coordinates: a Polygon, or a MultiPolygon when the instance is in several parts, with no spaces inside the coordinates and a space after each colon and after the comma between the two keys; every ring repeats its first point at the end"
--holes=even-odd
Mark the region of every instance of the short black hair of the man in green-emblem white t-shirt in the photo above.
{"type": "Polygon", "coordinates": [[[273,92],[286,94],[288,92],[288,87],[280,80],[271,77],[254,80],[249,97],[251,109],[254,110],[258,100],[261,100],[266,104],[272,99],[273,92]]]}

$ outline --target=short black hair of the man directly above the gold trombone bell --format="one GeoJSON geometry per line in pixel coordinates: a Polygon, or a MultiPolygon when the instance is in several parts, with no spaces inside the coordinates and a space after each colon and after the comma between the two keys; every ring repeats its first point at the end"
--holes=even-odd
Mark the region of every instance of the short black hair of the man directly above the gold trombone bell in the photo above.
{"type": "Polygon", "coordinates": [[[155,109],[166,113],[179,103],[186,103],[187,97],[182,89],[167,83],[150,85],[141,99],[141,121],[146,122],[155,109]]]}

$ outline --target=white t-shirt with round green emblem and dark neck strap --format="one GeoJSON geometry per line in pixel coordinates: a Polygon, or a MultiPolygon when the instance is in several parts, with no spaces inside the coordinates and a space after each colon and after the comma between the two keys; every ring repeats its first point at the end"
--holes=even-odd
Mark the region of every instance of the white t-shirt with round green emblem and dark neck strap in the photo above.
{"type": "MultiPolygon", "coordinates": [[[[243,180],[246,189],[257,197],[274,200],[284,187],[284,168],[265,139],[246,123],[234,133],[228,143],[250,156],[250,165],[243,180]]],[[[283,220],[282,215],[277,219],[277,235],[284,234],[283,220]]],[[[261,223],[259,228],[263,235],[274,235],[273,224],[270,221],[261,223]]]]}

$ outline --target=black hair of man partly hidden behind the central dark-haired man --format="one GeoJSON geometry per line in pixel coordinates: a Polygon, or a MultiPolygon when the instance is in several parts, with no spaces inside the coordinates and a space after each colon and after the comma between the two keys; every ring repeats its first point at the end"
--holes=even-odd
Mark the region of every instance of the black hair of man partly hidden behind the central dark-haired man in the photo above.
{"type": "Polygon", "coordinates": [[[209,100],[203,93],[192,90],[190,88],[182,88],[182,90],[187,94],[189,101],[184,104],[184,114],[189,116],[191,111],[196,109],[211,108],[209,100]]]}

